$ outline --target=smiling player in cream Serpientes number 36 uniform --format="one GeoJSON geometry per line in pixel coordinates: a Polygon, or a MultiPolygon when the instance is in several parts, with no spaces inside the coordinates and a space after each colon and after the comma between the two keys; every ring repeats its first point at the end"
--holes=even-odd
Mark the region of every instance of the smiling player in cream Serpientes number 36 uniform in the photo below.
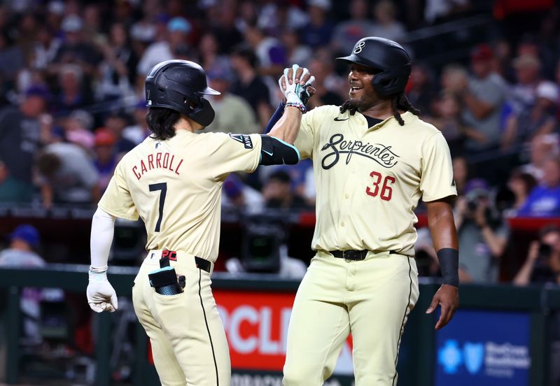
{"type": "Polygon", "coordinates": [[[400,338],[419,296],[420,198],[444,276],[427,312],[441,306],[439,329],[458,306],[451,157],[441,132],[416,116],[404,94],[409,56],[370,37],[339,59],[350,64],[349,101],[309,111],[295,141],[301,157],[313,159],[316,255],[290,318],[287,386],[322,385],[350,333],[356,385],[396,384],[400,338]]]}

